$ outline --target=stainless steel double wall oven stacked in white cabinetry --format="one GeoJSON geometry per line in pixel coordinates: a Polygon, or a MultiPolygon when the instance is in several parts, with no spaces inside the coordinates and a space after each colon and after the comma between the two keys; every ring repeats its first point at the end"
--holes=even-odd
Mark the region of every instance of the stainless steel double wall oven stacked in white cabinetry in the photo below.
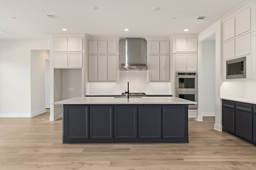
{"type": "MultiPolygon", "coordinates": [[[[176,72],[176,97],[198,102],[197,72],[176,72]]],[[[198,105],[188,105],[188,109],[197,109],[198,105]]]]}

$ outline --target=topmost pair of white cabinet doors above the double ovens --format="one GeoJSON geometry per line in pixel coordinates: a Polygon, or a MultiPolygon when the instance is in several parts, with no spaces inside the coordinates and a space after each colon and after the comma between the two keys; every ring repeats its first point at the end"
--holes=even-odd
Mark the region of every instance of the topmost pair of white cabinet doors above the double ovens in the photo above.
{"type": "Polygon", "coordinates": [[[176,38],[176,52],[197,52],[197,38],[176,38]]]}

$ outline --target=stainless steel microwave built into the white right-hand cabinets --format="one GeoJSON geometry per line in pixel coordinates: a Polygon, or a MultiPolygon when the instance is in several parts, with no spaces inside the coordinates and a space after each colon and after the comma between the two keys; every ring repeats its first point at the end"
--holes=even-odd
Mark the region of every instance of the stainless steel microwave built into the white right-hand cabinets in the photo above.
{"type": "Polygon", "coordinates": [[[226,61],[226,79],[246,78],[246,57],[226,61]]]}

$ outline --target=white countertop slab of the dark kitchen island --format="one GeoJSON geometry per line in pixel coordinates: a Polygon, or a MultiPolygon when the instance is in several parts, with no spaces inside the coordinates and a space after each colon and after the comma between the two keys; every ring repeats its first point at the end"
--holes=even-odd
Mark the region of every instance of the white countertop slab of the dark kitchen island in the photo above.
{"type": "Polygon", "coordinates": [[[54,104],[197,104],[196,102],[176,97],[75,97],[54,102],[54,104]]]}

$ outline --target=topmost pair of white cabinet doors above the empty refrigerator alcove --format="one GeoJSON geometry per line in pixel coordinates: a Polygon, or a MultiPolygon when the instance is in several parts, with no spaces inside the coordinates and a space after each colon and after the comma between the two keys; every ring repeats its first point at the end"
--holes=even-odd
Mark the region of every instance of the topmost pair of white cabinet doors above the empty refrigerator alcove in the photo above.
{"type": "Polygon", "coordinates": [[[83,38],[82,37],[54,37],[52,39],[53,52],[82,52],[83,38]]]}

